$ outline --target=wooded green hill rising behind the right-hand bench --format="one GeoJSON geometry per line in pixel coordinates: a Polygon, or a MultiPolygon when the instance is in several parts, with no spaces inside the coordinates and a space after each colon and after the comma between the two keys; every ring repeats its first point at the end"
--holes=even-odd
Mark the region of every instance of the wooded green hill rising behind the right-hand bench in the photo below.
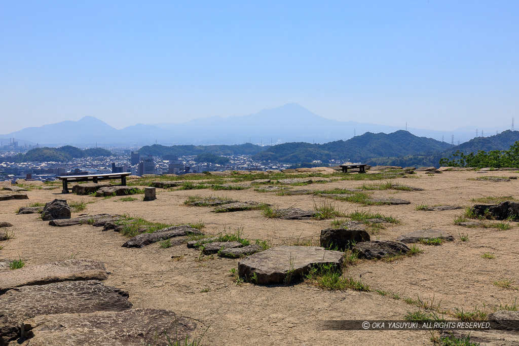
{"type": "Polygon", "coordinates": [[[312,162],[331,159],[366,161],[376,157],[398,157],[419,153],[443,151],[449,145],[427,137],[418,137],[404,130],[393,133],[371,133],[353,137],[347,141],[325,144],[284,143],[267,148],[253,156],[261,161],[312,162]]]}

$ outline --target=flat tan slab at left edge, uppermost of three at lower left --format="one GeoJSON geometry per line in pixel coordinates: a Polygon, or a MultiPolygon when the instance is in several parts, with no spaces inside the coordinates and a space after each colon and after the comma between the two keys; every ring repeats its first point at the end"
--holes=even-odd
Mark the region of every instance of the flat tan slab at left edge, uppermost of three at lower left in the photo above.
{"type": "Polygon", "coordinates": [[[20,286],[62,281],[106,280],[107,278],[108,274],[102,262],[92,259],[67,259],[3,272],[0,294],[20,286]]]}

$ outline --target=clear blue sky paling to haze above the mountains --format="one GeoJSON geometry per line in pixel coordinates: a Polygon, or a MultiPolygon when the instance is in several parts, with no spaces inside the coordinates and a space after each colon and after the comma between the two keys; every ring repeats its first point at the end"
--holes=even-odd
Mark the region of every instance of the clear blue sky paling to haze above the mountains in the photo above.
{"type": "Polygon", "coordinates": [[[519,1],[0,0],[0,133],[257,113],[519,121],[519,1]]]}

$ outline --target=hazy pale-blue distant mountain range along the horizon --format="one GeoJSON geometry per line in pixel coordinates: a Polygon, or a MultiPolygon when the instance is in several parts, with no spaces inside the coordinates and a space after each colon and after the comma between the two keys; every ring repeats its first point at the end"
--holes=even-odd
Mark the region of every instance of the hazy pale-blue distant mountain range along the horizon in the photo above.
{"type": "MultiPolygon", "coordinates": [[[[120,130],[97,118],[84,117],[78,121],[67,120],[40,127],[25,128],[0,135],[0,139],[4,139],[4,144],[9,143],[9,138],[15,137],[19,145],[38,143],[50,146],[65,144],[142,146],[156,141],[162,145],[230,145],[248,142],[255,144],[327,143],[347,140],[354,134],[391,133],[402,129],[403,127],[397,126],[326,119],[296,103],[289,103],[244,116],[200,118],[184,123],[138,123],[120,130]]],[[[431,137],[436,140],[441,140],[444,136],[446,142],[450,142],[451,136],[454,134],[456,143],[458,141],[466,142],[475,135],[471,127],[459,131],[413,128],[409,128],[408,131],[417,136],[431,137]]],[[[490,134],[488,130],[485,133],[490,134]]]]}

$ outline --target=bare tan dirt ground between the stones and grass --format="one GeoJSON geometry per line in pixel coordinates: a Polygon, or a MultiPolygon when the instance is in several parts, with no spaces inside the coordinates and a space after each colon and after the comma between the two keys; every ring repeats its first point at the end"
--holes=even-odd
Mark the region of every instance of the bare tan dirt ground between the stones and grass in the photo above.
{"type": "MultiPolygon", "coordinates": [[[[274,245],[290,244],[296,239],[318,242],[320,230],[331,227],[331,220],[269,219],[261,211],[212,213],[211,207],[189,207],[187,196],[225,196],[240,201],[260,201],[277,207],[297,206],[313,209],[319,199],[311,195],[276,196],[275,192],[247,190],[181,190],[157,189],[157,199],[144,202],[119,201],[91,196],[63,195],[61,189],[27,192],[29,200],[0,201],[0,221],[13,224],[14,239],[0,250],[0,258],[25,260],[26,266],[71,258],[102,261],[111,272],[107,285],[125,288],[134,307],[170,309],[181,316],[196,320],[206,345],[432,345],[427,331],[330,331],[318,330],[321,320],[402,320],[417,308],[405,298],[434,300],[441,309],[472,311],[486,307],[491,311],[499,305],[513,303],[519,290],[500,288],[497,280],[517,280],[519,271],[519,232],[513,228],[465,228],[453,219],[463,210],[417,211],[420,204],[474,204],[473,198],[512,196],[519,199],[519,180],[510,182],[474,181],[482,175],[519,176],[498,171],[444,172],[427,175],[418,172],[412,177],[392,182],[423,188],[424,191],[373,191],[374,197],[393,197],[411,201],[407,205],[371,205],[335,201],[341,211],[368,210],[394,216],[400,224],[372,233],[372,239],[395,240],[414,230],[436,228],[455,237],[454,242],[441,246],[419,244],[424,253],[415,257],[386,262],[361,260],[345,268],[344,274],[370,285],[371,292],[354,290],[327,291],[308,283],[261,286],[250,283],[237,285],[229,270],[238,267],[239,259],[206,256],[185,244],[160,248],[158,243],[143,248],[125,248],[127,240],[117,232],[90,225],[51,227],[37,219],[37,214],[16,215],[15,210],[32,202],[48,202],[54,198],[93,202],[79,214],[123,214],[142,216],[147,220],[168,224],[195,223],[206,225],[211,234],[230,227],[243,227],[247,239],[270,239],[274,245]],[[460,235],[468,234],[468,241],[460,235]],[[481,255],[491,253],[495,259],[481,255]],[[174,259],[172,256],[184,256],[174,259]],[[361,276],[360,276],[361,275],[361,276]],[[382,296],[375,290],[390,291],[401,299],[382,296]],[[207,291],[207,292],[206,292],[207,291]]],[[[355,188],[363,181],[332,181],[310,184],[295,189],[355,188]]],[[[382,181],[384,182],[384,181],[382,181]]],[[[7,191],[2,191],[7,192],[7,191]]],[[[514,282],[515,287],[519,283],[514,282]]],[[[453,316],[446,316],[454,320],[453,316]]]]}

